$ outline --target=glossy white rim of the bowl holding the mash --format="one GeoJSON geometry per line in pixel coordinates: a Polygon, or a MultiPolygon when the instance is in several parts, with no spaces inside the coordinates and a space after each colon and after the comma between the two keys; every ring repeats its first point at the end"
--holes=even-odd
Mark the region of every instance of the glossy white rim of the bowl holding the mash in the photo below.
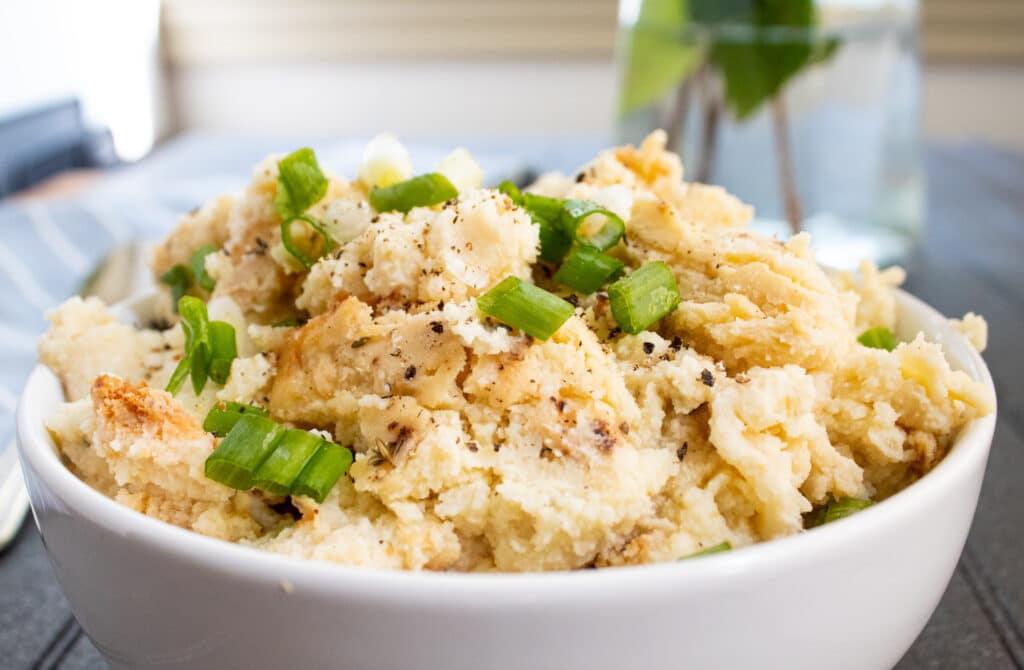
{"type": "MultiPolygon", "coordinates": [[[[912,312],[923,322],[922,332],[942,343],[954,369],[967,372],[993,393],[991,375],[984,361],[948,320],[910,294],[897,291],[898,312],[912,312]]],[[[362,594],[435,602],[457,598],[475,600],[481,595],[549,599],[579,598],[593,593],[594,587],[631,589],[638,584],[662,584],[672,580],[694,590],[705,590],[721,579],[770,577],[781,571],[800,569],[822,559],[822,554],[843,552],[852,543],[869,542],[884,528],[911,522],[928,513],[932,503],[944,497],[979,470],[984,470],[996,423],[996,411],[975,419],[964,427],[945,458],[928,474],[887,500],[857,513],[842,524],[757,543],[700,560],[671,561],[601,570],[546,573],[447,573],[401,571],[344,566],[316,559],[272,553],[206,537],[146,516],[79,479],[57,455],[56,447],[43,425],[45,411],[40,397],[48,389],[59,388],[55,375],[38,364],[30,374],[17,408],[17,445],[23,467],[38,475],[44,489],[57,498],[72,515],[84,516],[127,539],[150,545],[161,552],[177,555],[204,570],[233,579],[248,579],[289,587],[306,586],[319,591],[362,594]],[[554,588],[553,588],[554,587],[554,588]]],[[[973,504],[975,501],[971,501],[973,504]]],[[[35,505],[35,503],[33,503],[35,505]]]]}

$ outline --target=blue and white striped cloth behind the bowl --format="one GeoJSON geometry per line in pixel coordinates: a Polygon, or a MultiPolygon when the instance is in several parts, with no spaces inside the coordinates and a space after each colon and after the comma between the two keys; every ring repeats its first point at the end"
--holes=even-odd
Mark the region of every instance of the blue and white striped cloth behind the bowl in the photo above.
{"type": "MultiPolygon", "coordinates": [[[[114,248],[157,240],[177,217],[220,194],[242,187],[253,166],[271,153],[310,143],[321,164],[354,175],[365,139],[302,142],[294,139],[194,133],[153,157],[121,168],[74,199],[0,201],[0,451],[13,438],[13,418],[25,378],[46,329],[45,310],[78,292],[89,273],[114,248]]],[[[592,155],[594,140],[469,143],[488,181],[531,165],[572,169],[592,155]],[[482,151],[481,151],[482,149],[482,151]],[[580,157],[578,162],[574,157],[580,157]]],[[[418,169],[435,165],[455,143],[410,145],[418,169]]]]}

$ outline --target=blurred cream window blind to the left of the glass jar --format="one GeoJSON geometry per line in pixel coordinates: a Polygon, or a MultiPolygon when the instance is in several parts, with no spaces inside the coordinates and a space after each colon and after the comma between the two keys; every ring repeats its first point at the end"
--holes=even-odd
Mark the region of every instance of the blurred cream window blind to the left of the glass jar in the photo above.
{"type": "Polygon", "coordinates": [[[172,65],[607,57],[615,0],[165,0],[172,65]]]}

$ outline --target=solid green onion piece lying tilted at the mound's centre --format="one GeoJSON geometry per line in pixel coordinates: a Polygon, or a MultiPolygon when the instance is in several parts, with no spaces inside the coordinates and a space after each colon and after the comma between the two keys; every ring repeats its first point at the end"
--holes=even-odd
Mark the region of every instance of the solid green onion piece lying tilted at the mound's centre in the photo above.
{"type": "Polygon", "coordinates": [[[518,277],[502,280],[476,299],[476,306],[539,340],[551,337],[574,312],[565,300],[518,277]]]}

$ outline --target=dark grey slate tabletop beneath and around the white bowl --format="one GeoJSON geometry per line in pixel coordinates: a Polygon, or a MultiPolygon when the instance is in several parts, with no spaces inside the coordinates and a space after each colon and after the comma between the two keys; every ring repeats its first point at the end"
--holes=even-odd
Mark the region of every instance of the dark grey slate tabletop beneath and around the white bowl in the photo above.
{"type": "MultiPolygon", "coordinates": [[[[138,167],[180,169],[203,138],[173,142],[138,167]],[[190,146],[191,145],[191,146],[190,146]],[[163,157],[161,157],[163,152],[163,157]]],[[[595,144],[542,164],[566,167],[595,144]],[[586,150],[586,151],[584,151],[586,150]],[[572,161],[567,159],[571,158],[572,161]]],[[[254,148],[225,166],[248,173],[254,148]]],[[[520,145],[523,154],[528,154],[520,145]]],[[[938,610],[897,666],[901,670],[1024,668],[1024,156],[975,144],[931,146],[928,235],[907,289],[944,313],[989,321],[985,359],[998,393],[995,443],[967,548],[938,610]]],[[[0,554],[0,667],[103,668],[53,578],[28,521],[0,554]]]]}

